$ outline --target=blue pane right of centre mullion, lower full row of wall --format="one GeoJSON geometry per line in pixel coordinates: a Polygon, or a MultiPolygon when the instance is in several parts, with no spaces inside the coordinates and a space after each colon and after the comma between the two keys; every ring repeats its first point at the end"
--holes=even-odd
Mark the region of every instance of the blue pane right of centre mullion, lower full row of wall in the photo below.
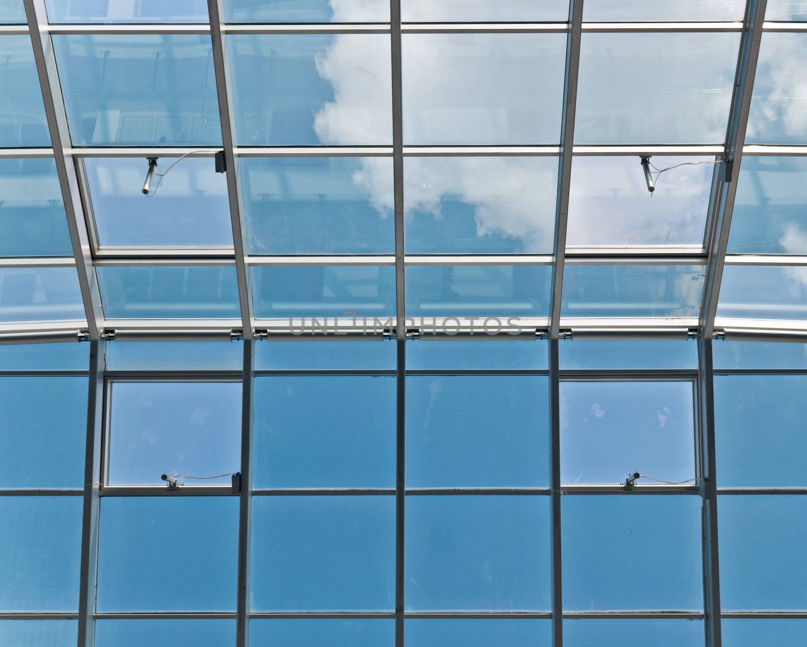
{"type": "Polygon", "coordinates": [[[407,611],[547,611],[548,496],[409,496],[407,611]]]}

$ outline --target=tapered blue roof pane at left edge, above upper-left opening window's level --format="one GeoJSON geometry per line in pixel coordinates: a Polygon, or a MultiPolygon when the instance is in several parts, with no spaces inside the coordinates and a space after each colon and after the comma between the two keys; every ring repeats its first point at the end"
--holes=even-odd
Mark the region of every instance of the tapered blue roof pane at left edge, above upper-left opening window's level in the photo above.
{"type": "Polygon", "coordinates": [[[31,38],[0,36],[0,61],[0,148],[50,146],[31,38]]]}

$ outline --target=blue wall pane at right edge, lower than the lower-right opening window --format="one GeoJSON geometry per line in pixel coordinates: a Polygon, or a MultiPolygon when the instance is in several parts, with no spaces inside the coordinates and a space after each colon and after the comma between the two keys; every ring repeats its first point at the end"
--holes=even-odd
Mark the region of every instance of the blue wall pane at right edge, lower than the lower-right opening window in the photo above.
{"type": "Polygon", "coordinates": [[[717,503],[721,609],[807,608],[807,497],[723,495],[717,503]]]}

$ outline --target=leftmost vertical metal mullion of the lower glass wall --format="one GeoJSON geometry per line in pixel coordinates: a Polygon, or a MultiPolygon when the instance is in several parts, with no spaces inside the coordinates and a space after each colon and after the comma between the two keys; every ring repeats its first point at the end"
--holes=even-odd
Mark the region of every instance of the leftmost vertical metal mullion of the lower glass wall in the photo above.
{"type": "Polygon", "coordinates": [[[98,524],[101,507],[101,436],[104,420],[104,367],[107,342],[90,341],[87,433],[82,506],[82,557],[79,572],[77,647],[93,647],[98,582],[98,524]]]}

